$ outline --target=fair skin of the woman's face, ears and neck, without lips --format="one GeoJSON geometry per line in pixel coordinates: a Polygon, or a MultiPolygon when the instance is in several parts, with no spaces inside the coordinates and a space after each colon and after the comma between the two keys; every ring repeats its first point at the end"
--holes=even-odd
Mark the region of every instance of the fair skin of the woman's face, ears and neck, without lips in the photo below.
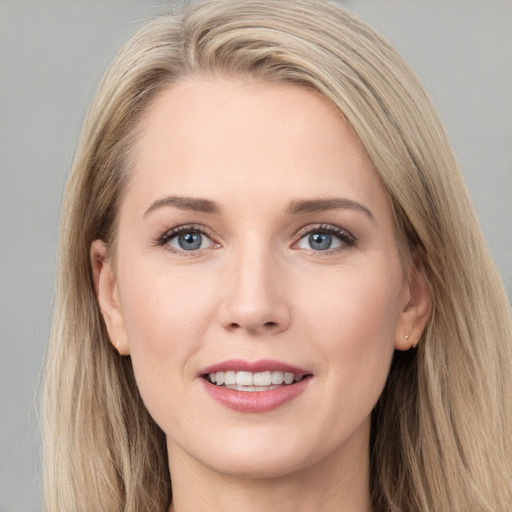
{"type": "Polygon", "coordinates": [[[402,267],[358,138],[310,90],[195,78],[160,94],[135,150],[115,262],[101,241],[91,258],[111,340],[167,436],[171,510],[370,510],[371,410],[430,296],[402,267]],[[158,203],[169,196],[218,211],[158,203]],[[345,203],[290,211],[333,198],[345,203]],[[206,232],[201,249],[158,242],[191,224],[206,232]],[[325,226],[351,238],[317,250],[308,234],[325,226]],[[228,359],[277,359],[312,377],[277,409],[242,413],[198,376],[228,359]]]}

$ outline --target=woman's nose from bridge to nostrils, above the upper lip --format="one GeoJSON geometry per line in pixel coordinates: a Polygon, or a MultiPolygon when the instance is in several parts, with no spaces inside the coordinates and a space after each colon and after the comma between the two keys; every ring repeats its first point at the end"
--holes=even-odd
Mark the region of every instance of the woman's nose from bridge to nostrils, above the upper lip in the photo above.
{"type": "Polygon", "coordinates": [[[268,254],[244,251],[227,265],[219,320],[228,331],[278,334],[291,320],[282,269],[268,254]]]}

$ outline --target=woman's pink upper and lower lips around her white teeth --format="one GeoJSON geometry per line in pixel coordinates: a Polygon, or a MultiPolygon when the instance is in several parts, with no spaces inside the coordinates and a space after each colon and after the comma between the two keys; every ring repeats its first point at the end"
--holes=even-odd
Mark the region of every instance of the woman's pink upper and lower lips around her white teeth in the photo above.
{"type": "Polygon", "coordinates": [[[219,364],[214,364],[204,368],[199,376],[222,372],[222,371],[281,371],[290,372],[295,375],[308,375],[300,382],[294,384],[283,385],[269,391],[237,391],[211,384],[206,379],[201,378],[206,392],[216,402],[221,405],[233,409],[238,412],[246,413],[262,413],[277,409],[281,405],[289,402],[293,398],[299,396],[308,387],[311,382],[310,372],[307,370],[291,366],[280,361],[260,360],[260,361],[244,361],[230,360],[219,364]]]}

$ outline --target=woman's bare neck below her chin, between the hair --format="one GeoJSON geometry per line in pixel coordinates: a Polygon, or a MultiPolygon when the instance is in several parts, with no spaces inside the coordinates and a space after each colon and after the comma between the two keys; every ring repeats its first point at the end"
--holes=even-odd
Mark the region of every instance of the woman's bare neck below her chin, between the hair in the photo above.
{"type": "Polygon", "coordinates": [[[363,446],[342,447],[289,474],[260,478],[216,472],[170,441],[168,447],[173,491],[169,512],[371,511],[367,439],[363,446]]]}

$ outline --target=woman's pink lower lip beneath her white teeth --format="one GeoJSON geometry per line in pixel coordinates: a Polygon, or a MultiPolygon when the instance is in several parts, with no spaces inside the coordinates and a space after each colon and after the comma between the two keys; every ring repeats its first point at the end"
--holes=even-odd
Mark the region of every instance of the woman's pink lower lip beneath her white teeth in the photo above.
{"type": "Polygon", "coordinates": [[[206,392],[219,404],[238,412],[258,413],[273,411],[299,396],[309,385],[311,377],[269,391],[237,391],[201,380],[206,392]]]}

